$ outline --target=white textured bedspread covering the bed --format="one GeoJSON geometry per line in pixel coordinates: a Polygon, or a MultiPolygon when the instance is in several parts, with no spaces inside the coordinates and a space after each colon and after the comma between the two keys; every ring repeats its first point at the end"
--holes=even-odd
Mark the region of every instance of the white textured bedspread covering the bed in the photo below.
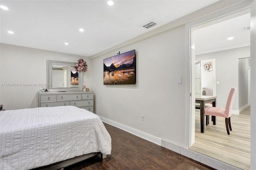
{"type": "Polygon", "coordinates": [[[74,106],[0,112],[0,169],[28,170],[83,154],[111,153],[100,118],[74,106]]]}

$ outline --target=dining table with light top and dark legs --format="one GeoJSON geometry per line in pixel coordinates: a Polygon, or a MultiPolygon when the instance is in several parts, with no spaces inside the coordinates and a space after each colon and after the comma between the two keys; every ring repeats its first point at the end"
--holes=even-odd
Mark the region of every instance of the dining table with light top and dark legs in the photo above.
{"type": "Polygon", "coordinates": [[[204,108],[206,103],[212,102],[212,107],[216,107],[216,99],[217,96],[206,96],[206,95],[199,95],[196,94],[196,103],[200,103],[200,127],[201,133],[204,133],[204,108]]]}

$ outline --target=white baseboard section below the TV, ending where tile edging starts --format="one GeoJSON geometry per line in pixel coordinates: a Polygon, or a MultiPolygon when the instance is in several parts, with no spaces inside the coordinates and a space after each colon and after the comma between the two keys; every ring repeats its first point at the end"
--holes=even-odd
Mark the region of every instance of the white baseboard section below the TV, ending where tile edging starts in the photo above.
{"type": "Polygon", "coordinates": [[[145,140],[148,140],[150,142],[153,142],[155,144],[158,144],[158,145],[161,145],[161,138],[158,138],[156,136],[153,136],[151,134],[148,134],[148,133],[145,133],[145,132],[142,132],[140,130],[137,130],[135,128],[131,128],[131,127],[128,127],[126,125],[122,125],[121,123],[118,123],[118,122],[115,122],[115,121],[112,121],[110,119],[106,119],[104,117],[101,117],[99,116],[101,121],[102,122],[105,122],[105,123],[108,123],[109,125],[112,125],[114,127],[117,127],[117,128],[120,128],[126,132],[129,132],[131,134],[134,134],[136,136],[139,136],[140,138],[143,138],[145,140]]]}

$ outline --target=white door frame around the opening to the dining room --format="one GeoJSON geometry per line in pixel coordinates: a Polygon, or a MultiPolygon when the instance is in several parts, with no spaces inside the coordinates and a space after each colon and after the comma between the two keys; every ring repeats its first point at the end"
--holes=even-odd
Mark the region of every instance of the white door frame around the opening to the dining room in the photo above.
{"type": "MultiPolygon", "coordinates": [[[[227,20],[228,18],[234,17],[234,15],[239,14],[248,10],[251,12],[251,45],[256,46],[256,38],[252,38],[252,35],[256,35],[256,24],[253,23],[253,18],[256,20],[256,0],[245,0],[240,1],[236,4],[230,5],[226,8],[220,7],[222,10],[218,10],[212,14],[198,18],[192,22],[189,22],[185,25],[185,38],[186,38],[186,147],[189,148],[192,146],[195,140],[195,83],[194,83],[194,61],[195,61],[195,48],[194,44],[191,42],[193,37],[193,31],[203,27],[204,24],[214,24],[214,22],[220,22],[220,20],[227,20]],[[254,17],[252,17],[254,16],[254,17]],[[217,21],[218,19],[218,21],[217,21]]],[[[246,12],[248,13],[248,12],[246,12]]],[[[239,14],[242,15],[242,14],[239,14]]],[[[256,22],[255,22],[256,23],[256,22]]],[[[251,48],[251,62],[252,65],[256,64],[256,50],[251,48]],[[253,51],[254,50],[254,51],[253,51]]],[[[256,69],[251,69],[251,87],[256,85],[256,69]]],[[[251,89],[251,101],[256,100],[256,90],[251,89]]],[[[256,113],[256,107],[251,107],[251,113],[256,113]]],[[[251,121],[256,121],[256,114],[251,114],[251,121]]],[[[251,124],[251,143],[256,143],[256,125],[251,124]],[[254,134],[254,135],[253,135],[254,134]]],[[[251,160],[256,160],[256,146],[251,145],[251,160]]],[[[250,166],[252,169],[256,169],[256,162],[251,161],[250,166]]]]}

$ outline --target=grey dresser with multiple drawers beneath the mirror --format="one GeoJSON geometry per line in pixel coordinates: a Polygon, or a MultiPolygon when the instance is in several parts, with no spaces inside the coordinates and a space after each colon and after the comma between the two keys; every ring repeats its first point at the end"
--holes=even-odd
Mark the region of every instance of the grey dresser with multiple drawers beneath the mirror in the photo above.
{"type": "Polygon", "coordinates": [[[38,92],[38,107],[76,106],[94,112],[94,94],[89,91],[38,92]]]}

